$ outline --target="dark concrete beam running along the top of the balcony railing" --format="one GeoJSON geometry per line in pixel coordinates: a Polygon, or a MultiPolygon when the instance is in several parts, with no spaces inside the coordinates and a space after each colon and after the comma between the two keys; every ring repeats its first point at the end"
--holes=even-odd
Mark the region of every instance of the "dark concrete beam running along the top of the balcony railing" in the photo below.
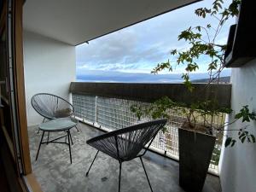
{"type": "Polygon", "coordinates": [[[70,90],[77,94],[142,102],[154,102],[163,96],[187,104],[214,99],[218,101],[219,107],[230,108],[231,84],[209,84],[207,88],[206,84],[194,86],[195,90],[191,93],[184,84],[73,82],[70,90]]]}

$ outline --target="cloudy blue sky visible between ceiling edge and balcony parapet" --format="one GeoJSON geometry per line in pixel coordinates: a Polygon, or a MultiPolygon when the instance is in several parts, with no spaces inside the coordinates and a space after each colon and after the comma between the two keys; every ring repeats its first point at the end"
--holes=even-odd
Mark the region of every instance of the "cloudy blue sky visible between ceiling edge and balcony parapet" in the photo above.
{"type": "MultiPolygon", "coordinates": [[[[165,80],[162,80],[161,75],[153,78],[154,74],[150,73],[158,63],[168,59],[174,61],[170,55],[172,49],[187,48],[188,45],[184,41],[177,40],[180,32],[189,26],[206,26],[207,23],[214,21],[216,23],[214,18],[201,19],[195,15],[195,9],[209,7],[212,2],[205,0],[194,3],[96,38],[89,44],[78,45],[76,47],[77,79],[113,82],[125,82],[129,79],[131,82],[133,77],[134,82],[150,82],[151,77],[155,82],[173,81],[177,73],[184,72],[184,65],[175,67],[172,73],[167,70],[162,72],[165,80]]],[[[218,44],[226,43],[230,25],[233,23],[235,19],[226,23],[218,35],[218,44]]],[[[200,68],[197,73],[204,73],[206,74],[204,77],[207,78],[207,58],[201,57],[198,62],[200,68]]],[[[230,71],[226,71],[223,76],[229,73],[230,71]]]]}

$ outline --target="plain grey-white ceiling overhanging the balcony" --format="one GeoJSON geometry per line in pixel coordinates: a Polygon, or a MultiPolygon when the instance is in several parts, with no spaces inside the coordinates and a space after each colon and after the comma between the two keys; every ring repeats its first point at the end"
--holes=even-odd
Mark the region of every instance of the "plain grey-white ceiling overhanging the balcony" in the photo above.
{"type": "Polygon", "coordinates": [[[25,30],[77,45],[198,0],[26,0],[25,30]]]}

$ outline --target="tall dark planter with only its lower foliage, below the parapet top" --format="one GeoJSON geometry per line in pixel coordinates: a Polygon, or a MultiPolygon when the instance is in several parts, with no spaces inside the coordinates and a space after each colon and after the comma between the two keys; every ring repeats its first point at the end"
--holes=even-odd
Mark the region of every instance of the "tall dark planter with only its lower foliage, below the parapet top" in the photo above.
{"type": "MultiPolygon", "coordinates": [[[[165,117],[172,121],[172,111],[184,117],[178,129],[179,148],[179,183],[186,191],[201,191],[207,177],[207,171],[212,158],[216,140],[216,131],[224,131],[224,125],[218,126],[214,116],[220,113],[231,113],[230,108],[218,108],[215,101],[194,102],[185,104],[173,102],[167,96],[160,98],[150,107],[154,119],[165,117]]],[[[236,120],[242,122],[256,120],[256,113],[250,112],[248,106],[243,106],[236,114],[236,120]]],[[[236,121],[235,120],[235,121],[236,121]]],[[[234,123],[230,122],[230,124],[234,123]]],[[[237,131],[241,143],[255,143],[255,137],[243,126],[237,131]]],[[[236,139],[227,137],[225,147],[233,147],[236,139]]]]}

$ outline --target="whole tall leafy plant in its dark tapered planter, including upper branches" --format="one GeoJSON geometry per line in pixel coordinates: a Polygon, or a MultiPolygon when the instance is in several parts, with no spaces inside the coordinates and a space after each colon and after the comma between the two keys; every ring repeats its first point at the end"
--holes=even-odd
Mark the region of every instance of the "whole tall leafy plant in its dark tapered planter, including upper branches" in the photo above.
{"type": "MultiPolygon", "coordinates": [[[[223,0],[214,0],[212,7],[195,10],[195,15],[206,18],[211,16],[217,20],[215,24],[208,23],[206,26],[190,26],[178,36],[178,40],[188,43],[185,50],[173,49],[171,52],[175,65],[185,65],[185,72],[182,75],[184,84],[189,91],[194,90],[189,75],[200,67],[199,58],[204,56],[208,59],[209,73],[208,84],[216,82],[220,73],[224,69],[224,51],[226,44],[219,44],[218,34],[222,30],[226,20],[239,13],[241,0],[233,0],[228,7],[224,8],[223,0]]],[[[172,60],[159,63],[152,73],[159,73],[164,69],[172,71],[172,60]]],[[[206,85],[207,86],[207,85],[206,85]]],[[[204,91],[204,90],[201,90],[204,91]]],[[[178,131],[179,140],[179,165],[180,165],[180,185],[186,191],[201,191],[207,176],[208,166],[212,157],[215,136],[214,132],[224,131],[223,127],[215,127],[213,116],[218,113],[230,113],[230,109],[218,108],[218,103],[214,101],[194,102],[192,104],[177,103],[165,97],[154,103],[152,116],[168,117],[170,110],[183,113],[186,117],[178,131]],[[199,121],[199,119],[203,119],[199,121]]],[[[236,120],[242,122],[255,120],[255,113],[249,111],[248,106],[243,106],[236,114],[236,120]]],[[[235,120],[235,121],[236,121],[235,120]]],[[[231,122],[233,123],[233,122],[231,122]]],[[[246,130],[246,126],[237,131],[241,143],[255,143],[255,137],[246,130]]],[[[236,139],[227,137],[225,147],[234,146],[236,139]]]]}

